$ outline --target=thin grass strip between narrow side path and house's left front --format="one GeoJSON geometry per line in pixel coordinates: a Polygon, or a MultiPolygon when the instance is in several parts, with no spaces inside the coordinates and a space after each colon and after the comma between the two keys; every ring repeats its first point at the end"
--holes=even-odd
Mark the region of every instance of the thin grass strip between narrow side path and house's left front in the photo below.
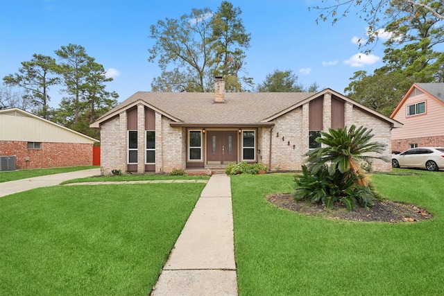
{"type": "Polygon", "coordinates": [[[144,181],[144,180],[209,180],[210,176],[202,175],[183,175],[183,176],[173,176],[173,175],[155,175],[155,174],[144,174],[144,175],[115,175],[115,176],[95,176],[95,177],[85,177],[80,179],[73,179],[62,182],[62,184],[78,183],[78,182],[121,182],[121,181],[144,181]]]}

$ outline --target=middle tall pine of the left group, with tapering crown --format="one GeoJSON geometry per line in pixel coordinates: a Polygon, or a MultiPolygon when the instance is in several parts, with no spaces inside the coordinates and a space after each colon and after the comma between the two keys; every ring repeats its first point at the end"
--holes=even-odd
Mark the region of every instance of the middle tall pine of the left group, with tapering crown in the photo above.
{"type": "Polygon", "coordinates": [[[74,124],[78,122],[80,112],[80,96],[89,73],[88,65],[94,58],[87,55],[85,48],[80,45],[69,44],[55,51],[61,60],[58,73],[62,76],[63,90],[74,103],[74,124]]]}

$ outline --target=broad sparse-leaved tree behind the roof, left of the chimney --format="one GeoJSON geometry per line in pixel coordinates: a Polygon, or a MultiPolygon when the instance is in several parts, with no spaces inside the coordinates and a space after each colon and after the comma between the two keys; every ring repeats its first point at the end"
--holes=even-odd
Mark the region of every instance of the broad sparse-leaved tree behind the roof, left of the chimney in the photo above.
{"type": "Polygon", "coordinates": [[[154,91],[205,92],[214,66],[212,12],[193,9],[180,19],[157,21],[150,27],[155,45],[148,49],[148,62],[158,58],[162,76],[152,83],[154,91]],[[171,69],[171,65],[173,69],[171,69]]]}

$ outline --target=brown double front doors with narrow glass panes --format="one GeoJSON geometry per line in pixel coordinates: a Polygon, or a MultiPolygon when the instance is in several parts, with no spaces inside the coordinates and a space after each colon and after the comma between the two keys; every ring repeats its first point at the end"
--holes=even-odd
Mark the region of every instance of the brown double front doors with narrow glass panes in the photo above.
{"type": "Polygon", "coordinates": [[[237,162],[237,131],[207,131],[207,164],[237,162]]]}

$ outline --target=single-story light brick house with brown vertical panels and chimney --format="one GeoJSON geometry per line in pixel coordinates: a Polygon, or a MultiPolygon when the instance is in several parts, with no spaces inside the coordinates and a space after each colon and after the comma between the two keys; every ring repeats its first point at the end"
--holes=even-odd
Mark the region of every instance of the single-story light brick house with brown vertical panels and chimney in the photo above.
{"type": "MultiPolygon", "coordinates": [[[[222,168],[262,162],[274,170],[301,169],[303,155],[328,128],[364,125],[391,155],[391,129],[401,126],[325,89],[318,93],[137,92],[90,125],[101,129],[101,172],[137,173],[222,168]]],[[[375,162],[378,171],[391,164],[375,162]]]]}

